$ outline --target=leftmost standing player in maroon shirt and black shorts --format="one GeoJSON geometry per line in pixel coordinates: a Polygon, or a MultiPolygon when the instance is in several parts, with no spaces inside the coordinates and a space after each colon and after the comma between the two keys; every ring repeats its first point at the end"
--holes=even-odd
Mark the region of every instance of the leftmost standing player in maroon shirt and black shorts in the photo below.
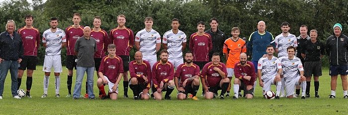
{"type": "Polygon", "coordinates": [[[33,82],[33,72],[36,70],[37,48],[40,46],[40,32],[32,26],[34,17],[27,14],[24,18],[25,26],[18,30],[18,34],[22,38],[24,46],[24,59],[20,62],[18,68],[18,88],[22,82],[22,77],[25,69],[26,71],[26,93],[30,97],[30,89],[33,82]]]}

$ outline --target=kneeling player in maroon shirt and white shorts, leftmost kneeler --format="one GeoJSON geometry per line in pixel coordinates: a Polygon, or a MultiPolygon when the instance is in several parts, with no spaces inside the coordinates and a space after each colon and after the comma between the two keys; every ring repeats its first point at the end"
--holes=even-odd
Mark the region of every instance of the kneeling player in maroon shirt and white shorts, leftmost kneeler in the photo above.
{"type": "MultiPolygon", "coordinates": [[[[99,78],[96,84],[102,93],[101,99],[106,99],[106,93],[103,84],[109,85],[109,95],[111,100],[116,100],[118,95],[118,83],[123,76],[123,62],[116,53],[116,45],[107,46],[109,54],[101,59],[98,71],[99,78]]],[[[74,98],[75,99],[75,98],[74,98]]]]}

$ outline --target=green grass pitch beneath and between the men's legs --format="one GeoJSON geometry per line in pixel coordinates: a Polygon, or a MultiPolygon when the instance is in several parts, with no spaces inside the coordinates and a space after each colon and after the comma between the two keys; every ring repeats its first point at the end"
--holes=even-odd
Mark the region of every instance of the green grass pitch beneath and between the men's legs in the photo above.
{"type": "MultiPolygon", "coordinates": [[[[54,97],[54,78],[50,78],[48,97],[41,98],[43,94],[43,77],[44,72],[41,71],[42,66],[37,66],[34,71],[33,86],[31,95],[33,98],[14,99],[10,91],[10,76],[7,75],[5,80],[5,88],[3,99],[0,100],[0,115],[6,114],[25,114],[25,115],[58,115],[58,114],[116,114],[116,115],[347,115],[348,100],[343,99],[342,82],[340,78],[337,84],[336,99],[328,99],[330,92],[330,76],[328,69],[323,70],[322,77],[319,78],[320,88],[319,95],[321,98],[300,98],[280,100],[266,100],[261,96],[261,87],[256,87],[256,96],[254,99],[247,100],[240,98],[232,100],[232,97],[227,97],[225,100],[213,99],[205,100],[200,97],[201,87],[197,93],[200,100],[177,100],[175,89],[172,93],[172,100],[156,101],[150,100],[133,100],[132,90],[128,91],[131,98],[123,98],[122,82],[119,89],[118,100],[88,100],[65,98],[68,94],[66,80],[68,70],[63,70],[61,73],[61,98],[54,97]]],[[[65,67],[63,67],[65,68],[65,67]]],[[[74,70],[74,72],[76,72],[74,70]]],[[[26,89],[26,74],[24,73],[21,89],[26,89]]],[[[51,73],[53,75],[53,73],[51,73]]],[[[73,77],[73,89],[75,84],[76,73],[73,77]]],[[[84,82],[86,81],[86,76],[84,82]]],[[[96,81],[96,76],[94,82],[96,81]]],[[[314,96],[314,86],[311,83],[311,96],[314,96]]],[[[85,83],[83,83],[82,94],[85,94],[85,83]]],[[[275,87],[272,86],[275,91],[275,87]]],[[[107,90],[107,87],[105,87],[107,90]]],[[[233,90],[231,90],[232,92],[233,90]]],[[[94,83],[94,94],[98,95],[96,83],[94,83]]]]}

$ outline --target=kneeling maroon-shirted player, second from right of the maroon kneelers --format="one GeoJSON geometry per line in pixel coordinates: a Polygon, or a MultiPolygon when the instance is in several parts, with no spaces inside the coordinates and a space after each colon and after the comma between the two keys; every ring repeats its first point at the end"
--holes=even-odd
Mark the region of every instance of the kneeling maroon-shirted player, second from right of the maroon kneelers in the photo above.
{"type": "Polygon", "coordinates": [[[220,99],[225,99],[230,79],[227,78],[225,64],[220,62],[220,54],[213,53],[212,62],[204,65],[201,72],[201,82],[205,92],[205,99],[214,98],[214,93],[221,90],[220,99]]]}

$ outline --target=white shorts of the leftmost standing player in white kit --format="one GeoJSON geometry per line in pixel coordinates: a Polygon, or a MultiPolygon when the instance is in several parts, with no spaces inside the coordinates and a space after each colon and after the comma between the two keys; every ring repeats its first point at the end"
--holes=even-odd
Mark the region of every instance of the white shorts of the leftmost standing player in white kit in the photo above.
{"type": "Polygon", "coordinates": [[[54,73],[63,72],[61,55],[45,55],[42,71],[51,72],[52,67],[54,69],[54,73]]]}

